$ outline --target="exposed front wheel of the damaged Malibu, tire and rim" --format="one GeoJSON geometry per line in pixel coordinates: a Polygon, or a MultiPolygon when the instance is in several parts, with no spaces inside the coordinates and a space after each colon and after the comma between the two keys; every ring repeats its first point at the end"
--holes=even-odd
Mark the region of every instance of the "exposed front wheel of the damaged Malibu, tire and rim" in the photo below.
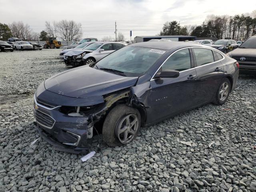
{"type": "Polygon", "coordinates": [[[103,123],[103,141],[110,147],[128,144],[140,130],[140,112],[121,104],[115,106],[103,123]]]}

